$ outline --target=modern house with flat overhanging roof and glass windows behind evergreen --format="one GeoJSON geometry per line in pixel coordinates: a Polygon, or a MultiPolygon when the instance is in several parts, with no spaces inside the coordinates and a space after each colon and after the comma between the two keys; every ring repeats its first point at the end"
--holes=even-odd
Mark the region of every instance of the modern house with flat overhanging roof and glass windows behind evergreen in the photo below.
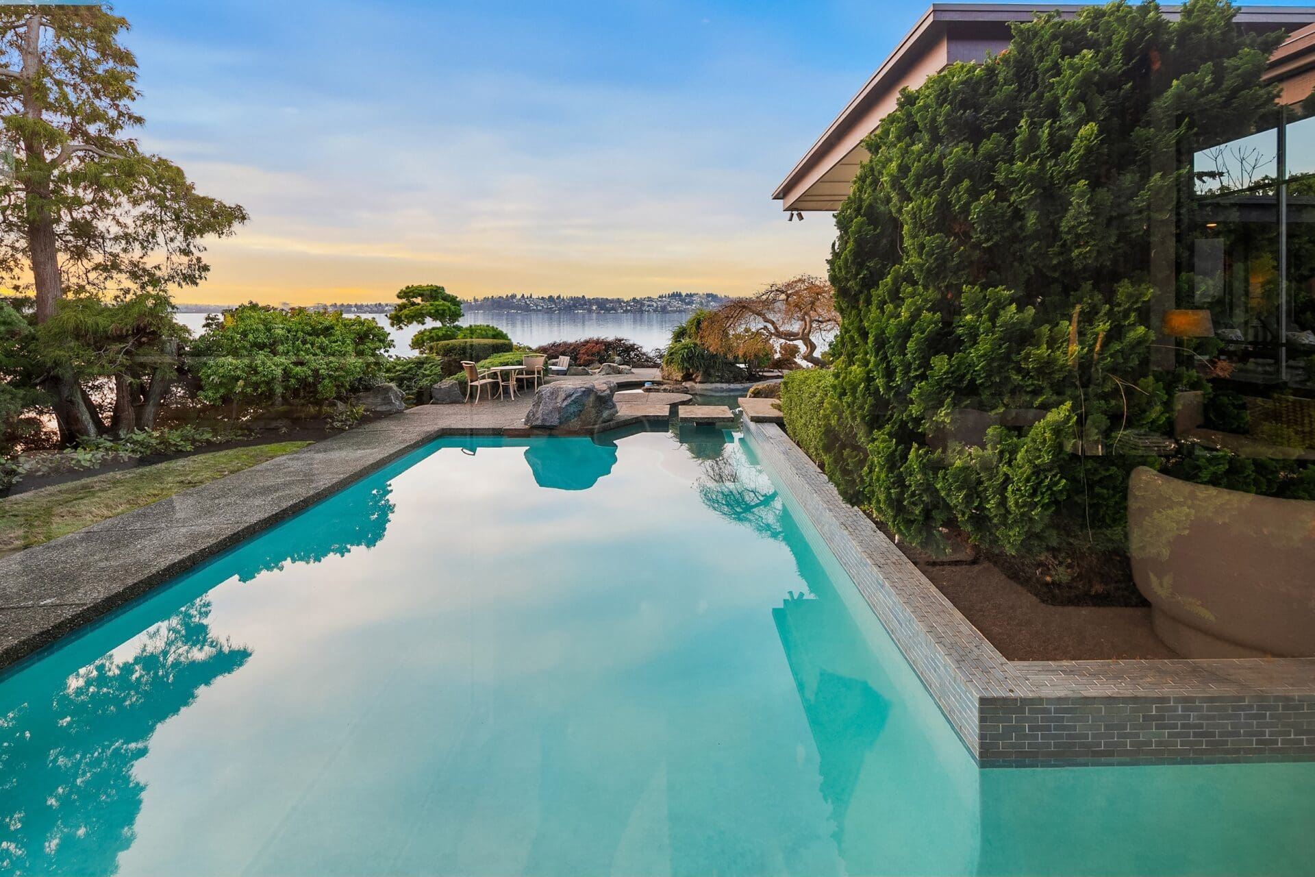
{"type": "MultiPolygon", "coordinates": [[[[901,89],[917,88],[949,64],[1001,53],[1015,22],[1045,12],[1072,17],[1084,5],[932,4],[772,197],[792,218],[794,212],[836,210],[868,155],[864,138],[896,108],[901,89]]],[[[1161,11],[1178,14],[1177,7],[1161,11]]],[[[1173,367],[1174,333],[1212,335],[1236,366],[1235,383],[1310,394],[1315,392],[1315,101],[1307,97],[1315,89],[1315,7],[1241,7],[1235,21],[1252,32],[1289,34],[1266,74],[1279,85],[1278,105],[1261,130],[1197,153],[1190,212],[1195,220],[1152,230],[1177,239],[1177,246],[1166,241],[1153,247],[1159,263],[1149,266],[1162,291],[1151,320],[1165,333],[1152,362],[1173,367]],[[1165,322],[1168,312],[1185,309],[1194,313],[1194,322],[1177,329],[1165,322]]],[[[1311,405],[1315,412],[1315,401],[1311,405]]],[[[1315,422],[1315,413],[1299,419],[1315,422]]]]}

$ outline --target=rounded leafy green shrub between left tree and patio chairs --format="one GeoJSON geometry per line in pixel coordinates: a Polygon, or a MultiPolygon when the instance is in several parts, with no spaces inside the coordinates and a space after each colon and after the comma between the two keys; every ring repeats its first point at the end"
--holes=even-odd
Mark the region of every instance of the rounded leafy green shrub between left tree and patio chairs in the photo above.
{"type": "Polygon", "coordinates": [[[247,304],[206,323],[191,362],[206,402],[322,404],[377,376],[391,346],[373,320],[247,304]]]}

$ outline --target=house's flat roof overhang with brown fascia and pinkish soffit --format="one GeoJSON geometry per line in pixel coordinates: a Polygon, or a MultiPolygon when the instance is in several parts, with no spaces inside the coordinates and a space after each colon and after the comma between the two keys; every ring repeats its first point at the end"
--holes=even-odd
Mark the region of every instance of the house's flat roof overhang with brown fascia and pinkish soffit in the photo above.
{"type": "MultiPolygon", "coordinates": [[[[1086,5],[1090,4],[932,4],[776,187],[772,197],[781,201],[782,210],[838,209],[849,193],[859,164],[868,156],[863,139],[894,109],[902,88],[917,88],[952,63],[984,60],[998,54],[1009,46],[1014,22],[1030,21],[1044,12],[1072,17],[1086,5]]],[[[1178,14],[1177,7],[1161,7],[1161,11],[1169,17],[1178,14]]],[[[1315,28],[1308,28],[1315,24],[1315,7],[1241,7],[1236,22],[1248,30],[1297,32],[1293,39],[1304,33],[1301,29],[1310,30],[1308,58],[1304,50],[1294,51],[1293,63],[1299,55],[1306,64],[1302,71],[1315,83],[1315,28]]],[[[1306,93],[1310,93],[1308,87],[1306,93]]],[[[1285,97],[1285,103],[1291,101],[1285,97]]]]}

